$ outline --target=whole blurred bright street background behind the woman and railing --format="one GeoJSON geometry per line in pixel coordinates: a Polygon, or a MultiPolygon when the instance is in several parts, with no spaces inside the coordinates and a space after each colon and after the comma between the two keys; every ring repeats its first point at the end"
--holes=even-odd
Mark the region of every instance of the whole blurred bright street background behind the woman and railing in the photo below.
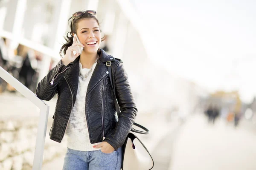
{"type": "MultiPolygon", "coordinates": [[[[0,67],[35,92],[61,59],[76,11],[97,11],[122,59],[154,170],[256,169],[256,1],[0,0],[0,67]],[[136,62],[134,62],[136,61],[136,62]]],[[[0,75],[1,77],[1,75],[0,75]]],[[[44,170],[61,170],[66,139],[49,139],[44,170]]],[[[39,109],[0,78],[0,169],[32,169],[39,109]]]]}

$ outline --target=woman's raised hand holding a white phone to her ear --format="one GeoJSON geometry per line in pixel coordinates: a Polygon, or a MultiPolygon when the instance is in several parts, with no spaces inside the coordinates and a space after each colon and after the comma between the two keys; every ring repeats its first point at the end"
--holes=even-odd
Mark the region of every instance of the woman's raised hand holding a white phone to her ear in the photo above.
{"type": "Polygon", "coordinates": [[[82,43],[76,42],[76,37],[73,37],[73,44],[67,48],[65,56],[61,59],[64,65],[68,65],[70,62],[73,62],[79,54],[79,48],[77,46],[84,47],[82,43]],[[76,54],[73,54],[73,51],[76,51],[76,54]]]}

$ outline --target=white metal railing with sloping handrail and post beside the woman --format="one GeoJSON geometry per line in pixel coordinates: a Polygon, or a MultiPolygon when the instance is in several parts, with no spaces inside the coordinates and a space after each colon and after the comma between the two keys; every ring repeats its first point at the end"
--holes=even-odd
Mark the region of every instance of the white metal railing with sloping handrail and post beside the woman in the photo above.
{"type": "Polygon", "coordinates": [[[0,67],[0,77],[8,82],[12,87],[19,91],[23,96],[29,99],[40,109],[38,131],[35,143],[35,154],[33,161],[33,170],[41,170],[44,156],[44,142],[47,129],[47,121],[49,115],[49,105],[39,99],[32,91],[24,86],[17,79],[12,77],[7,71],[0,67]]]}

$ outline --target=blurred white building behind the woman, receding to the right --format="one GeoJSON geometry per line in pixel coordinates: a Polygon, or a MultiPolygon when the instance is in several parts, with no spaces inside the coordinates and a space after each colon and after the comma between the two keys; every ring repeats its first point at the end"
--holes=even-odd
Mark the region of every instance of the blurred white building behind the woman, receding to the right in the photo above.
{"type": "Polygon", "coordinates": [[[60,59],[58,52],[69,31],[67,20],[86,9],[97,11],[108,35],[108,53],[123,60],[140,113],[173,107],[191,111],[197,102],[191,83],[151,62],[143,41],[143,20],[129,0],[2,0],[0,36],[12,39],[12,48],[20,43],[44,54],[40,80],[51,60],[60,59]]]}

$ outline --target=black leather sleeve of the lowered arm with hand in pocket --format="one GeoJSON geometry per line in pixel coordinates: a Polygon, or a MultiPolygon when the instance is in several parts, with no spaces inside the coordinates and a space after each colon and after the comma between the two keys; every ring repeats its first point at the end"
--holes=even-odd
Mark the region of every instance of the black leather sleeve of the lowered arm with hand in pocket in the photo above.
{"type": "Polygon", "coordinates": [[[107,136],[104,141],[111,144],[117,150],[125,142],[128,133],[131,131],[137,115],[137,108],[122,62],[119,62],[119,65],[117,65],[114,81],[116,98],[120,107],[119,121],[116,123],[113,133],[107,136]]]}

